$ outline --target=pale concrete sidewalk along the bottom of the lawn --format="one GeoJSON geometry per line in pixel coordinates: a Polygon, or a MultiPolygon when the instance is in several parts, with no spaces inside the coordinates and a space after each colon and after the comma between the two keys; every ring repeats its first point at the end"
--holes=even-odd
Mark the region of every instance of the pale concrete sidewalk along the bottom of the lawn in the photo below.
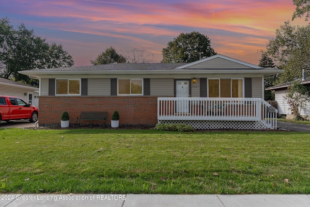
{"type": "Polygon", "coordinates": [[[310,195],[0,194],[0,207],[309,207],[310,195]]]}

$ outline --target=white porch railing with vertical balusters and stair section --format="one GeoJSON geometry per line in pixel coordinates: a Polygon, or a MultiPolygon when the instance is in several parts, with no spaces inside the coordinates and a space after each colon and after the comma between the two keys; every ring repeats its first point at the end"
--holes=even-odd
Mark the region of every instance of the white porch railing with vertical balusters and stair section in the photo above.
{"type": "Polygon", "coordinates": [[[277,110],[262,98],[158,97],[157,118],[184,121],[256,121],[277,128],[277,110]]]}

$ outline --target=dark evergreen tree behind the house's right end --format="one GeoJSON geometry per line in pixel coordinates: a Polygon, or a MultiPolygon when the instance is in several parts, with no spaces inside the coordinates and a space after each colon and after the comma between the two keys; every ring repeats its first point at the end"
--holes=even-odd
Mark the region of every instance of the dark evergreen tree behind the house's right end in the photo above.
{"type": "MultiPolygon", "coordinates": [[[[265,51],[262,51],[262,58],[260,60],[260,63],[258,64],[261,67],[264,68],[274,68],[276,65],[274,64],[272,58],[268,57],[265,51]]],[[[276,80],[276,76],[271,78],[264,79],[264,88],[268,88],[274,85],[274,82],[276,80]]],[[[275,94],[272,91],[264,91],[264,99],[265,100],[274,100],[275,94]]]]}

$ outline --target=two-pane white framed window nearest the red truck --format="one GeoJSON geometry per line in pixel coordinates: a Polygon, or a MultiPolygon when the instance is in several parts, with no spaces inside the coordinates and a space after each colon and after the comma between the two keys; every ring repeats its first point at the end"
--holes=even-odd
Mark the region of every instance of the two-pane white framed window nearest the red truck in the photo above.
{"type": "Polygon", "coordinates": [[[80,95],[80,79],[56,79],[56,95],[80,95]]]}

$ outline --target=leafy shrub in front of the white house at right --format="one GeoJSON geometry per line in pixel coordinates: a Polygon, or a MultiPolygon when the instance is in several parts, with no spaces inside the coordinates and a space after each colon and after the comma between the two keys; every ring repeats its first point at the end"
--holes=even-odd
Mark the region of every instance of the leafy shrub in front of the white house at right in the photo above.
{"type": "Polygon", "coordinates": [[[310,89],[309,87],[294,81],[289,87],[288,92],[283,96],[290,106],[292,114],[296,120],[303,119],[300,116],[300,111],[307,106],[309,101],[310,89]]]}

